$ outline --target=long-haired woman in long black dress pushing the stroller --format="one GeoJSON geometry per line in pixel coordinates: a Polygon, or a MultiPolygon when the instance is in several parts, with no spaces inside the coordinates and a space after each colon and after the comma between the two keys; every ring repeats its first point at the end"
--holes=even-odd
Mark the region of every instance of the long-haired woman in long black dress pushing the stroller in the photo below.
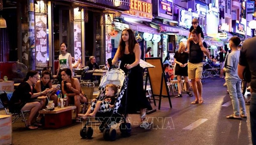
{"type": "MultiPolygon", "coordinates": [[[[120,69],[122,69],[125,74],[131,69],[127,86],[128,97],[126,113],[135,114],[137,111],[140,111],[141,121],[143,121],[146,118],[146,109],[151,110],[152,107],[143,90],[143,74],[140,68],[140,57],[140,45],[137,43],[133,31],[129,28],[124,29],[119,47],[112,60],[112,65],[116,64],[118,59],[120,59],[120,69]]],[[[121,103],[124,104],[125,97],[122,99],[121,103]]]]}

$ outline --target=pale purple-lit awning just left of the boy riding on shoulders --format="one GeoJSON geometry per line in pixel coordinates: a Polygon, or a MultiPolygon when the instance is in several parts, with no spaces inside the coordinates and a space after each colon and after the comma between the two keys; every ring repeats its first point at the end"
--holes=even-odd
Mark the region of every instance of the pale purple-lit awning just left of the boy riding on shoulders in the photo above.
{"type": "Polygon", "coordinates": [[[178,35],[182,36],[188,36],[189,31],[183,28],[179,27],[174,27],[174,26],[169,26],[169,25],[164,25],[164,24],[158,24],[160,26],[160,32],[161,33],[176,33],[178,35]]]}

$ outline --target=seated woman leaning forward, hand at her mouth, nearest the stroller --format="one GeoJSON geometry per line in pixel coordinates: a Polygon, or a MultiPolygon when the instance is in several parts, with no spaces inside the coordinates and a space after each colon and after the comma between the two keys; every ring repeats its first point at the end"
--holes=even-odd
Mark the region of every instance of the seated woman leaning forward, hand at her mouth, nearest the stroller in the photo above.
{"type": "Polygon", "coordinates": [[[60,72],[61,74],[61,90],[62,95],[67,96],[68,103],[74,102],[76,105],[76,120],[80,121],[78,118],[78,113],[80,112],[80,102],[86,102],[87,99],[84,97],[84,93],[81,90],[80,82],[77,78],[72,78],[71,70],[64,68],[60,72]]]}

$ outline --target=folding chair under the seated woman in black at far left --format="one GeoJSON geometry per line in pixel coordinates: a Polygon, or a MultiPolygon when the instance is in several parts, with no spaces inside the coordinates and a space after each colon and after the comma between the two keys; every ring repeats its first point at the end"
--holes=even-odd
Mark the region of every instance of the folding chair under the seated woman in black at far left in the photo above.
{"type": "Polygon", "coordinates": [[[4,90],[1,90],[0,92],[1,92],[0,93],[0,100],[1,100],[0,103],[4,106],[4,110],[5,110],[6,115],[15,116],[14,120],[12,121],[12,124],[15,121],[17,121],[20,118],[20,116],[22,116],[23,117],[22,121],[24,121],[26,127],[28,127],[27,120],[25,119],[25,114],[30,112],[30,110],[20,111],[20,112],[17,112],[17,113],[11,113],[11,112],[7,111],[8,106],[9,106],[9,99],[7,97],[7,93],[4,90]]]}

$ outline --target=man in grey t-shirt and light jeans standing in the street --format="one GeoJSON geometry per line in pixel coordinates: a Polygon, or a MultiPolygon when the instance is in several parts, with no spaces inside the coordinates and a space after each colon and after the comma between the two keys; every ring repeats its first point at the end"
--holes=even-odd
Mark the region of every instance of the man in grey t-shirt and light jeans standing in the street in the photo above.
{"type": "Polygon", "coordinates": [[[231,48],[232,52],[228,54],[226,58],[225,67],[223,68],[223,71],[226,72],[226,83],[228,87],[228,92],[230,95],[230,98],[232,100],[233,110],[234,113],[232,115],[228,115],[228,119],[241,119],[246,118],[246,112],[245,112],[245,103],[244,103],[244,97],[241,91],[241,79],[238,76],[237,73],[237,65],[240,55],[240,50],[238,50],[238,45],[241,43],[241,39],[234,36],[230,38],[229,41],[229,47],[231,48]],[[241,114],[240,109],[241,107],[241,114]]]}

